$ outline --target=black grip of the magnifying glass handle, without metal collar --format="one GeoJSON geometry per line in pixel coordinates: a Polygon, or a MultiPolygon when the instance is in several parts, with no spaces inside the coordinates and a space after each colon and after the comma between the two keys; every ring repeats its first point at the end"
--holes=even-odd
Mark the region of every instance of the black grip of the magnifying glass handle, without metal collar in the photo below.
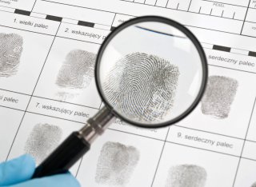
{"type": "Polygon", "coordinates": [[[41,165],[38,165],[32,178],[66,173],[89,149],[90,144],[78,132],[71,133],[41,165]]]}

